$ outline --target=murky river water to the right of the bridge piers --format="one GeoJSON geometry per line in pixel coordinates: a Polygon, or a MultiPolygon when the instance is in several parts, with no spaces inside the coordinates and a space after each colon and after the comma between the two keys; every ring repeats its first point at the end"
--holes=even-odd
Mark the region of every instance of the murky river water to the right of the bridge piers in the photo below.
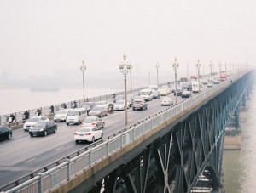
{"type": "MultiPolygon", "coordinates": [[[[255,89],[254,89],[255,90],[255,89]]],[[[241,150],[224,150],[226,193],[256,192],[256,91],[247,100],[247,122],[240,122],[241,150]]]]}

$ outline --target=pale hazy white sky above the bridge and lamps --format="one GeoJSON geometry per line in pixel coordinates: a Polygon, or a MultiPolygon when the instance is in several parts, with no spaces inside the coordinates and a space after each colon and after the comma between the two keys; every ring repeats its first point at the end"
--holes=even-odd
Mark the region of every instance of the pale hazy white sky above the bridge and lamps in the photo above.
{"type": "MultiPolygon", "coordinates": [[[[134,76],[207,65],[256,62],[253,0],[0,0],[0,73],[79,69],[86,75],[119,72],[123,53],[134,76]]],[[[101,77],[99,76],[99,78],[101,77]]]]}

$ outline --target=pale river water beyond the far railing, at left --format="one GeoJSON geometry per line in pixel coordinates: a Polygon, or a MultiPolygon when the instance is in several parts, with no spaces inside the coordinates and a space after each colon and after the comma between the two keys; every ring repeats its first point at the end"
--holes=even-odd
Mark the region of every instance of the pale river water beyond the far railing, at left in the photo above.
{"type": "MultiPolygon", "coordinates": [[[[113,94],[111,89],[85,89],[85,98],[113,94]]],[[[60,89],[55,92],[38,92],[30,89],[0,89],[0,115],[37,109],[83,99],[83,89],[60,89]]]]}

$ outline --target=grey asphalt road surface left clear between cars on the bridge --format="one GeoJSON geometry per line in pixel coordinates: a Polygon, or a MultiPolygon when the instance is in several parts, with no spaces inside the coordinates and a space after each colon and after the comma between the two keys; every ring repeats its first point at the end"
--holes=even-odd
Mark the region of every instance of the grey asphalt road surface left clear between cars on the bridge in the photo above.
{"type": "MultiPolygon", "coordinates": [[[[169,96],[175,101],[173,94],[169,96]]],[[[149,101],[148,109],[145,111],[132,111],[132,108],[129,108],[128,125],[169,108],[169,106],[160,105],[161,98],[149,101]]],[[[177,99],[178,102],[184,100],[180,96],[177,96],[177,99]]],[[[102,119],[105,121],[105,128],[102,128],[104,138],[119,132],[125,127],[125,111],[115,111],[113,114],[102,117],[102,119]]],[[[51,133],[46,137],[32,138],[28,132],[21,128],[13,131],[11,140],[0,142],[0,187],[48,166],[58,159],[65,159],[73,152],[90,145],[89,143],[75,144],[73,133],[80,128],[79,125],[67,126],[65,122],[57,124],[57,133],[51,133]]]]}

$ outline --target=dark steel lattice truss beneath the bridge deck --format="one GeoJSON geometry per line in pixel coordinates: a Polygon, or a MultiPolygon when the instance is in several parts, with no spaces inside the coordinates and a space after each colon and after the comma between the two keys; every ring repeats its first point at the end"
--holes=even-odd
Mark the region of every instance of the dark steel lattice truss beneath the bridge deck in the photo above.
{"type": "Polygon", "coordinates": [[[224,128],[239,111],[250,74],[167,125],[160,136],[86,192],[221,190],[224,128]]]}

